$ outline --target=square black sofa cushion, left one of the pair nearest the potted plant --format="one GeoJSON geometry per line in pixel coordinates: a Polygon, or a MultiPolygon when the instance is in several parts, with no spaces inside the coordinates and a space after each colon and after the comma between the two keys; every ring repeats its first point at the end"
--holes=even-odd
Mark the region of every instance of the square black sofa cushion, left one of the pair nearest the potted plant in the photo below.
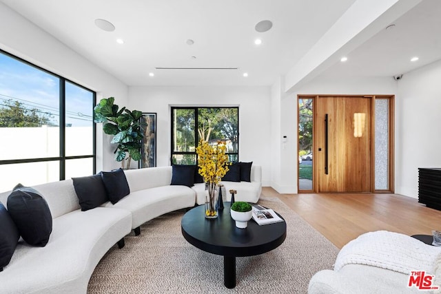
{"type": "Polygon", "coordinates": [[[72,180],[82,211],[99,207],[109,200],[101,174],[72,178],[72,180]]]}

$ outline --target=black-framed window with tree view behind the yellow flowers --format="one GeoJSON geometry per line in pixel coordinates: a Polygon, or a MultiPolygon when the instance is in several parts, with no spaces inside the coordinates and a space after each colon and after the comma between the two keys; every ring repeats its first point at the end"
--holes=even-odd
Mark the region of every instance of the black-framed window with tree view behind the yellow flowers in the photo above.
{"type": "Polygon", "coordinates": [[[172,107],[172,163],[195,165],[199,140],[227,144],[229,160],[239,160],[238,107],[172,107]]]}

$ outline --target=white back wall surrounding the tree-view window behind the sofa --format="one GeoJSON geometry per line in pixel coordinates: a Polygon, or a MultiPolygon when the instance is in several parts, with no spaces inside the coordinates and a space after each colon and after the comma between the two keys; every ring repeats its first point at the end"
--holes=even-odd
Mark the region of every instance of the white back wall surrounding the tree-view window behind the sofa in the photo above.
{"type": "Polygon", "coordinates": [[[171,106],[238,106],[239,159],[262,166],[263,185],[271,179],[269,87],[130,87],[130,109],[157,113],[156,165],[170,165],[171,106]]]}

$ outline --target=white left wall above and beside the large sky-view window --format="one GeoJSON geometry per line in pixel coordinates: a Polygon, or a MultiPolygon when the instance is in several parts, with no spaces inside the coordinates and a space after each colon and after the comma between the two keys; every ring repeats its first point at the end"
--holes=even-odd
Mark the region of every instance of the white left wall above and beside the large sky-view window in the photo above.
{"type": "MultiPolygon", "coordinates": [[[[127,101],[127,85],[80,56],[53,36],[0,3],[0,49],[59,74],[90,90],[100,98],[114,96],[116,103],[127,101]]],[[[119,167],[113,159],[110,136],[97,125],[96,163],[98,171],[119,167]]]]}

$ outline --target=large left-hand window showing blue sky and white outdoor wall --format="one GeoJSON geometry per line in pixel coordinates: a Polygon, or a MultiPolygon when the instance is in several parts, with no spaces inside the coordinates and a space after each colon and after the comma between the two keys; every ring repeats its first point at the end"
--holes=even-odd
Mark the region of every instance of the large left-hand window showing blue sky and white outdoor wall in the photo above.
{"type": "Polygon", "coordinates": [[[0,50],[0,192],[95,172],[96,94],[0,50]]]}

